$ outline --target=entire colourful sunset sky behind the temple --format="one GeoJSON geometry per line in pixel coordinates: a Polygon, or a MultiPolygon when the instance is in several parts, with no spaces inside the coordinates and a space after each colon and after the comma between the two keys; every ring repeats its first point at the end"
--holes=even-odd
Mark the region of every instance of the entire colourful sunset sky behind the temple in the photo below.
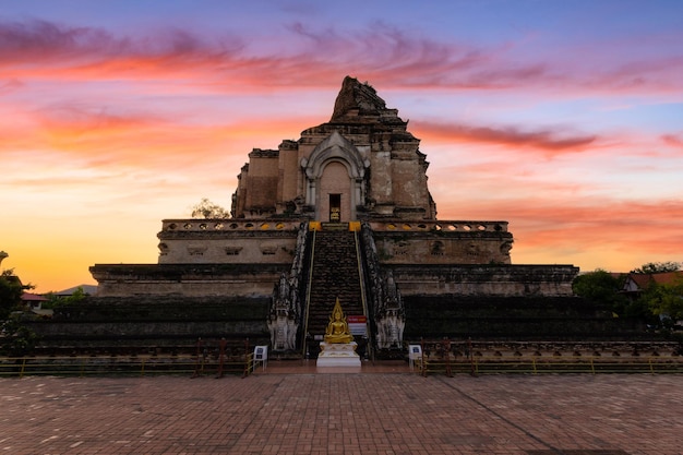
{"type": "Polygon", "coordinates": [[[36,291],[156,263],[253,147],[398,109],[443,220],[516,264],[683,261],[683,1],[0,0],[0,250],[36,291]]]}

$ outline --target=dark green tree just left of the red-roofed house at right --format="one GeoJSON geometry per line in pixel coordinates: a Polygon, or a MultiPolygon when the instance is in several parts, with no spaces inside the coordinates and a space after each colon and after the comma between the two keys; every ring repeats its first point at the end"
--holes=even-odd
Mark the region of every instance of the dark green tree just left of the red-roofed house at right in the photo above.
{"type": "Polygon", "coordinates": [[[603,270],[578,275],[572,283],[574,294],[608,308],[618,315],[625,313],[628,299],[621,294],[624,278],[603,270]]]}

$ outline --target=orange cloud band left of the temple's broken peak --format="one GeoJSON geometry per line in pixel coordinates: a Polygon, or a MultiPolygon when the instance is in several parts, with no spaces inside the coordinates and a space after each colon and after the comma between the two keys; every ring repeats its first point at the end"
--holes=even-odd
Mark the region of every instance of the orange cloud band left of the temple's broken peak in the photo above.
{"type": "MultiPolygon", "coordinates": [[[[16,149],[63,154],[98,168],[192,166],[235,154],[247,159],[252,147],[276,148],[280,141],[320,119],[285,117],[225,124],[183,123],[172,115],[113,113],[58,106],[33,112],[25,127],[0,127],[0,156],[16,149]],[[267,133],[264,133],[267,132],[267,133]],[[261,135],[263,144],[254,144],[261,135]],[[50,152],[47,152],[50,151],[50,152]],[[197,153],[201,159],[197,160],[197,153]]],[[[237,173],[239,167],[235,169],[237,173]]]]}

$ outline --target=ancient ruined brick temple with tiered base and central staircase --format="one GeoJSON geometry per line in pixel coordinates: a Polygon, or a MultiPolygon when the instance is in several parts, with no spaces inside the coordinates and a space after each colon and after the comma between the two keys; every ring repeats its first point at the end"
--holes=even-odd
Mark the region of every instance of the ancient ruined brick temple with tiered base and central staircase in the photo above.
{"type": "Polygon", "coordinates": [[[572,297],[578,270],[513,265],[507,221],[438,219],[429,163],[407,125],[347,76],[329,121],[249,154],[230,218],[165,219],[158,264],[94,265],[94,300],[216,308],[203,325],[177,318],[157,332],[251,334],[283,352],[320,339],[336,298],[370,349],[402,349],[406,336],[571,332],[586,316],[572,297]],[[566,316],[562,326],[548,328],[542,311],[506,316],[540,301],[561,302],[550,313],[566,316]]]}

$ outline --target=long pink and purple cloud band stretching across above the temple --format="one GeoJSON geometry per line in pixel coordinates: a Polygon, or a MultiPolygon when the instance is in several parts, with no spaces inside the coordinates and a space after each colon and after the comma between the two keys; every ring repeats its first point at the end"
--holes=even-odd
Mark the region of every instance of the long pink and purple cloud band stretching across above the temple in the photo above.
{"type": "Polygon", "coordinates": [[[214,91],[232,91],[238,85],[242,91],[249,86],[336,86],[346,74],[386,88],[414,89],[680,93],[682,84],[673,76],[683,64],[679,57],[651,58],[643,64],[637,57],[600,56],[609,50],[600,46],[587,58],[602,62],[595,71],[578,53],[562,59],[558,52],[520,56],[522,48],[507,43],[487,47],[439,41],[383,23],[344,33],[295,23],[287,32],[260,53],[256,45],[239,37],[206,38],[179,28],[117,36],[103,28],[45,21],[0,23],[0,68],[17,80],[200,79],[193,85],[214,91]]]}

